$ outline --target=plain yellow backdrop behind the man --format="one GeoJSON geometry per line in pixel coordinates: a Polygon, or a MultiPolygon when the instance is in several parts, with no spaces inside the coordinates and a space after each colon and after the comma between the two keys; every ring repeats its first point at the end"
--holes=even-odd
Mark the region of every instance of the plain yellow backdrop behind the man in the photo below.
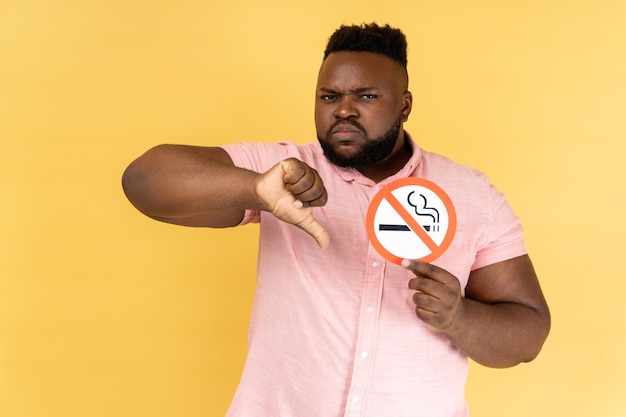
{"type": "Polygon", "coordinates": [[[552,307],[535,362],[472,365],[473,415],[626,416],[623,0],[0,0],[0,417],[224,414],[257,229],[153,222],[120,175],[314,139],[325,42],[372,20],[409,40],[407,129],[505,191],[552,307]]]}

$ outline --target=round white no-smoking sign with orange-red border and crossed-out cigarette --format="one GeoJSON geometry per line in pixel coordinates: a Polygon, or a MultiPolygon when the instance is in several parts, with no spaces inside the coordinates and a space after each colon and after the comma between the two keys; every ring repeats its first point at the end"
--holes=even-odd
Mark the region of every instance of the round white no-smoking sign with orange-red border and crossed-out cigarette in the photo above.
{"type": "Polygon", "coordinates": [[[456,212],[450,197],[423,178],[402,178],[387,184],[367,210],[367,234],[385,259],[431,262],[452,243],[456,212]]]}

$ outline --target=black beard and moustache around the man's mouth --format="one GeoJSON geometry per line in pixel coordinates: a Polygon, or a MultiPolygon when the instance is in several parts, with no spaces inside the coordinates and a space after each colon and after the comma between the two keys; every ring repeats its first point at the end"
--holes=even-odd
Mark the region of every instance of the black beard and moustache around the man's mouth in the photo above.
{"type": "Polygon", "coordinates": [[[332,164],[335,164],[342,168],[359,169],[377,164],[385,160],[389,155],[391,155],[391,152],[393,152],[393,149],[396,146],[401,127],[402,115],[398,117],[398,119],[391,125],[391,127],[389,127],[389,129],[382,136],[372,139],[367,135],[365,128],[363,128],[363,126],[361,126],[361,124],[357,121],[351,119],[339,120],[328,129],[325,138],[322,138],[318,135],[317,140],[322,146],[324,156],[326,156],[326,159],[328,159],[332,164]],[[366,138],[365,144],[355,155],[340,155],[335,151],[330,143],[330,132],[333,130],[333,128],[335,128],[336,125],[340,123],[349,123],[352,126],[355,126],[361,132],[363,132],[363,135],[366,138]]]}

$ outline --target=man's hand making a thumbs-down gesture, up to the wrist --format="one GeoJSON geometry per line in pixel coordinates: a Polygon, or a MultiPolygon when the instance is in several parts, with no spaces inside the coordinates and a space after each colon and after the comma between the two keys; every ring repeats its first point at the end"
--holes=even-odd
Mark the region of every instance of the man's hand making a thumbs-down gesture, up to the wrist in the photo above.
{"type": "Polygon", "coordinates": [[[328,199],[316,170],[298,159],[285,159],[259,175],[254,190],[264,210],[313,236],[320,248],[328,247],[328,232],[313,217],[313,207],[328,199]]]}

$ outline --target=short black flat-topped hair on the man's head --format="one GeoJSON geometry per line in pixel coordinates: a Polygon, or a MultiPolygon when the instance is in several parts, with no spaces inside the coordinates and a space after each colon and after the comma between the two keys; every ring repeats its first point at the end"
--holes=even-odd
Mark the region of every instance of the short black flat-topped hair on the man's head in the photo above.
{"type": "Polygon", "coordinates": [[[324,59],[333,52],[373,52],[393,59],[406,69],[406,49],[404,33],[388,24],[341,25],[328,39],[324,59]]]}

